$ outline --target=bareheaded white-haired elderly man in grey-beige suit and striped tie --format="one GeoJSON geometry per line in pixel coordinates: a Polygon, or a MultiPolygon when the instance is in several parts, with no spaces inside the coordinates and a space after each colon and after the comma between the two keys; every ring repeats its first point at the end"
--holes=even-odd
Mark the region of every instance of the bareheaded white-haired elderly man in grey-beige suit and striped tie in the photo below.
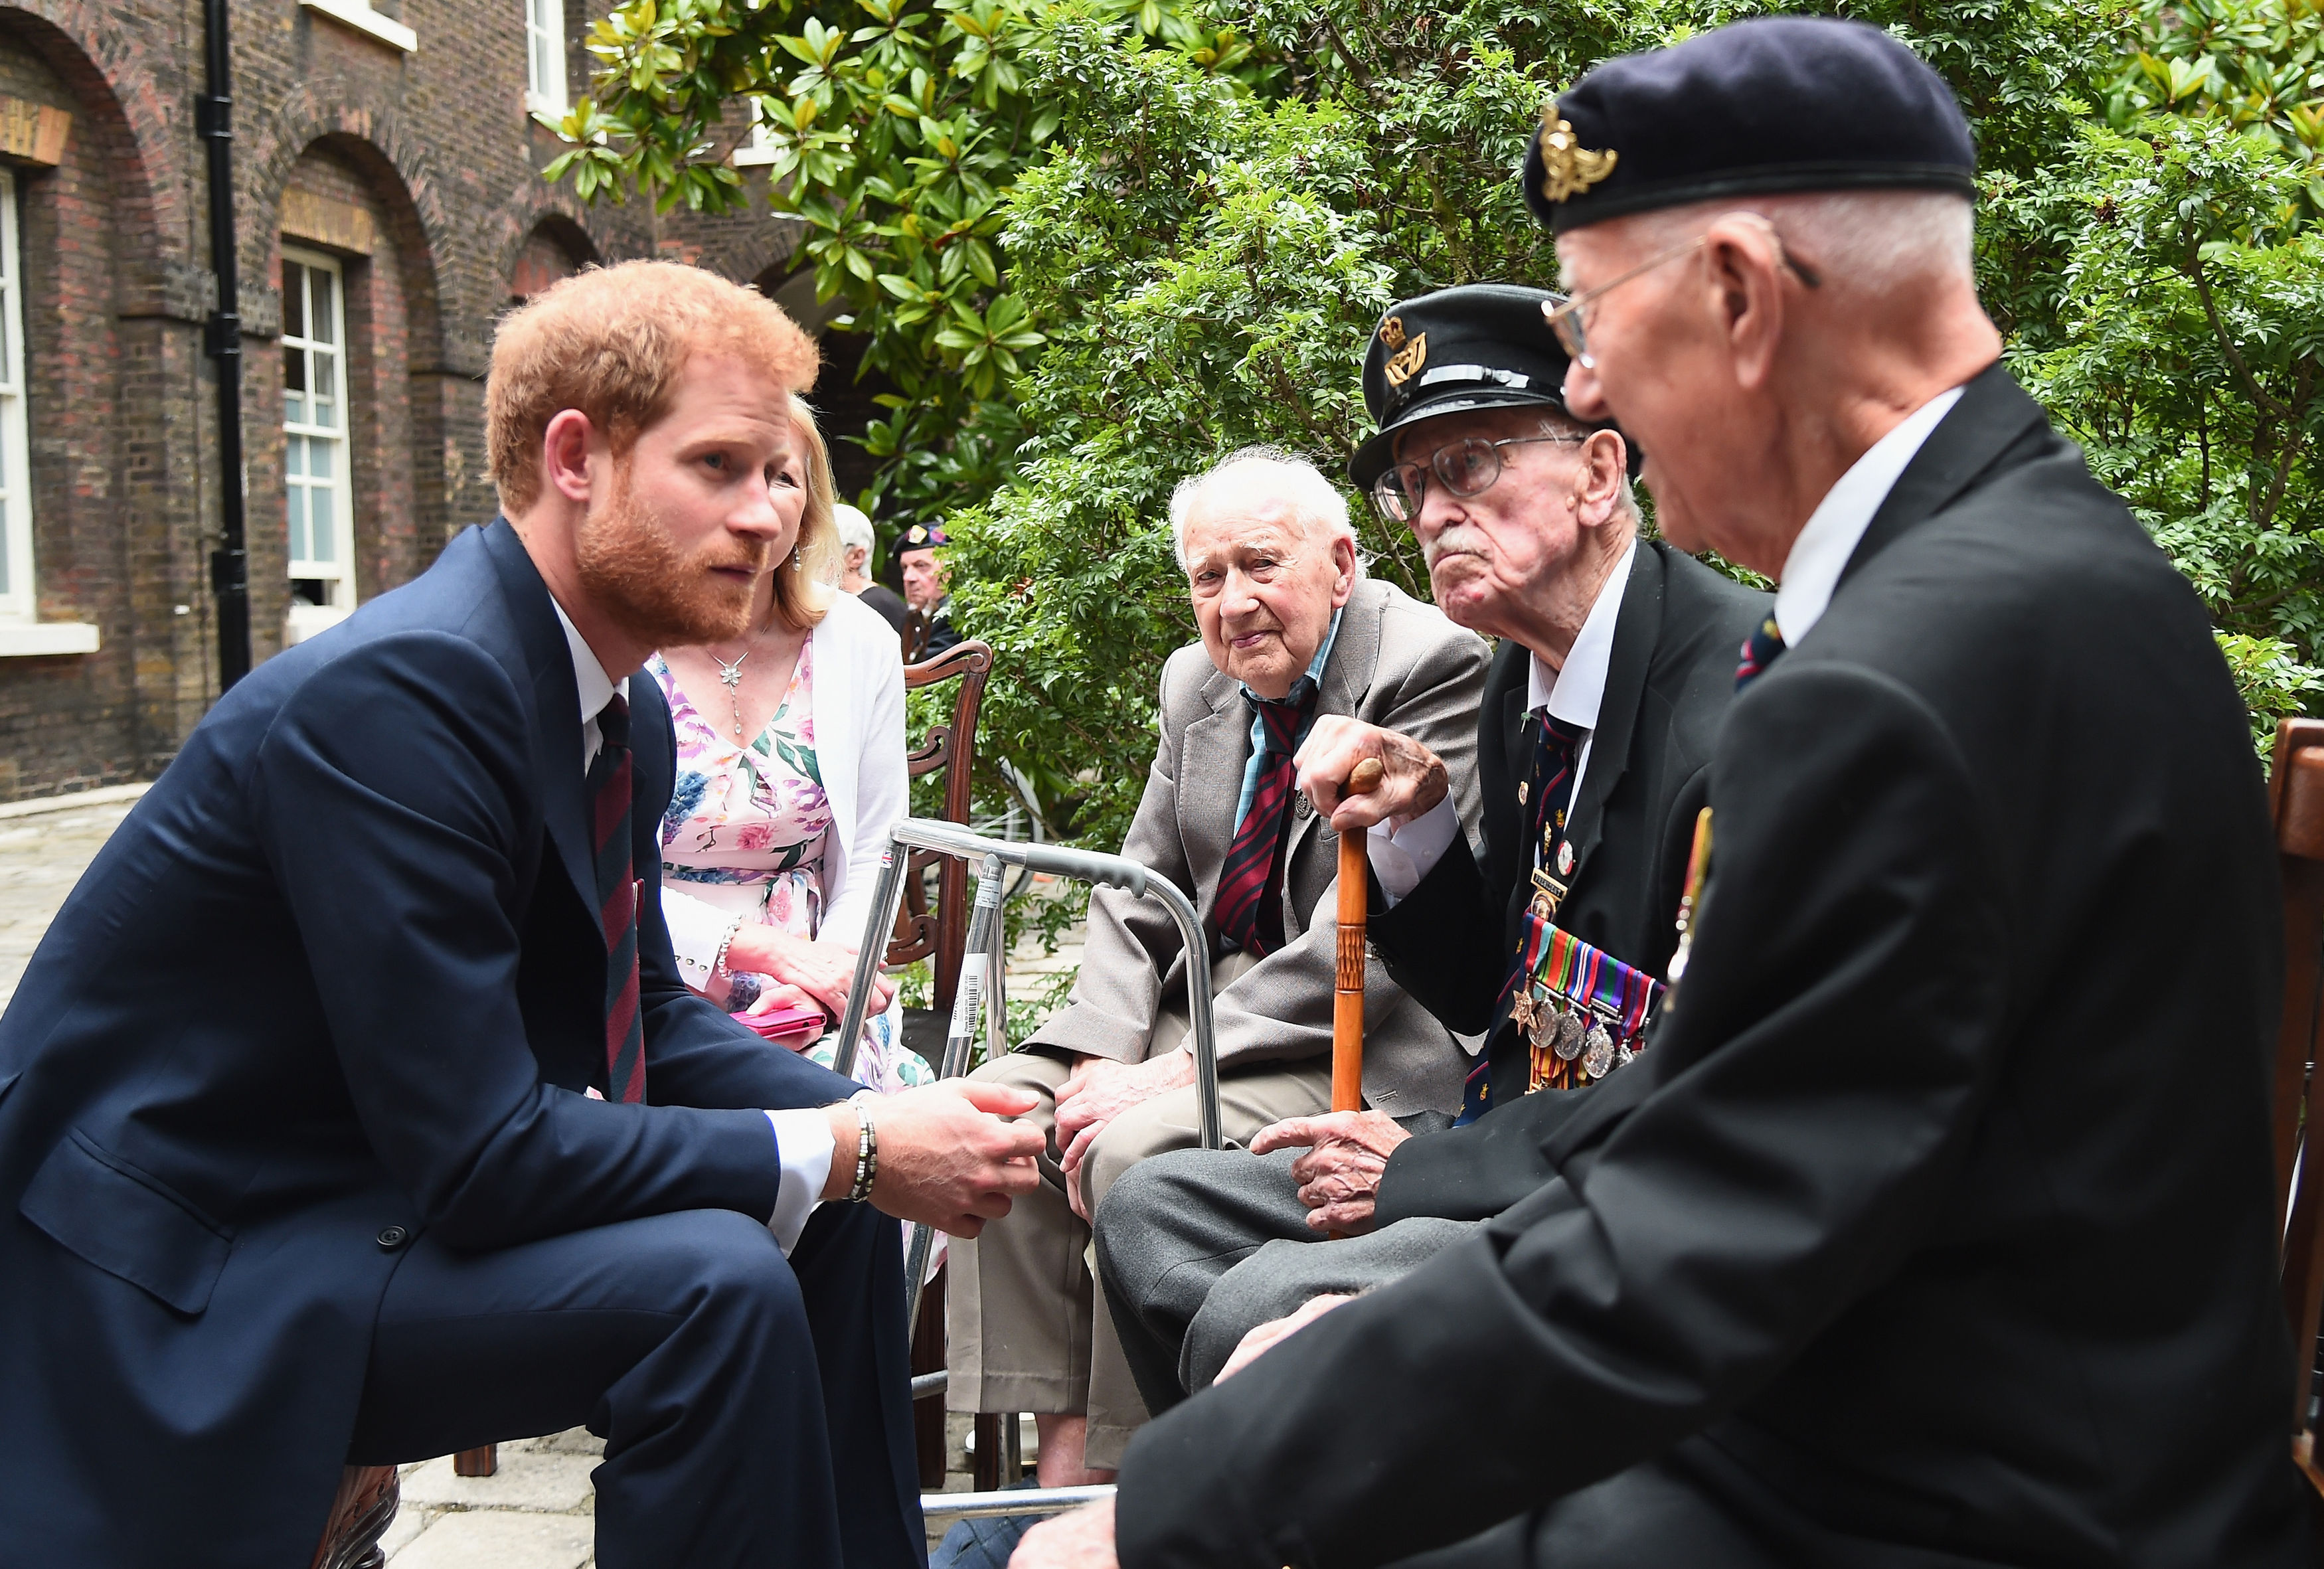
{"type": "MultiPolygon", "coordinates": [[[[1320,714],[1422,739],[1450,772],[1455,828],[1476,832],[1490,651],[1367,579],[1346,500],[1290,453],[1243,449],[1185,479],[1171,535],[1202,642],[1162,667],[1160,746],[1122,853],[1178,883],[1211,932],[1220,1113],[1241,1144],[1332,1102],[1339,839],[1292,790],[1292,753],[1320,714]]],[[[1404,858],[1376,846],[1376,874],[1394,879],[1390,860],[1404,858]]],[[[951,1406],[1032,1411],[1043,1485],[1111,1478],[1146,1420],[1111,1320],[1092,1316],[1088,1216],[1134,1162],[1195,1144],[1185,1030],[1176,927],[1097,890],[1069,1004],[976,1074],[1039,1095],[1027,1116],[1050,1144],[1043,1185],[953,1244],[951,1406]]],[[[1420,1130],[1459,1111],[1469,1048],[1378,962],[1364,1048],[1373,1109],[1420,1130]]]]}

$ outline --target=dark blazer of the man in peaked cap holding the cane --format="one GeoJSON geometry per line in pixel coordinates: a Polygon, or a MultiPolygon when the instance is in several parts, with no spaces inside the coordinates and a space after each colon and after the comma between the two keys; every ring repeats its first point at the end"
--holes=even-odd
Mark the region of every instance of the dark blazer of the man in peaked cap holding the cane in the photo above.
{"type": "MultiPolygon", "coordinates": [[[[1557,925],[1655,976],[1678,941],[1673,916],[1710,786],[1710,748],[1736,690],[1736,655],[1769,607],[1769,595],[1659,539],[1638,544],[1622,590],[1590,767],[1566,814],[1573,876],[1557,925]]],[[[1499,1000],[1532,897],[1532,830],[1518,807],[1529,679],[1532,653],[1504,644],[1476,725],[1483,869],[1455,839],[1394,909],[1380,909],[1373,890],[1369,937],[1387,972],[1452,1030],[1490,1030],[1492,1053],[1492,1111],[1471,1127],[1397,1146],[1380,1178],[1380,1225],[1501,1213],[1550,1178],[1536,1125],[1597,1088],[1525,1095],[1529,1051],[1499,1000]]]]}

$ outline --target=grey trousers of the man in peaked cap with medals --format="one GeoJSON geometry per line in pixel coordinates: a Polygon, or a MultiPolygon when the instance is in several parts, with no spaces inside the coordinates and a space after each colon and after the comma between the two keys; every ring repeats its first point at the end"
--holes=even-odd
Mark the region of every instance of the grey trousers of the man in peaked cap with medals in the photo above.
{"type": "Polygon", "coordinates": [[[1327,1241],[1292,1181],[1299,1155],[1174,1151],[1099,1204],[1097,1274],[1148,1411],[1206,1388],[1257,1325],[1385,1285],[1480,1225],[1413,1218],[1327,1241]]]}

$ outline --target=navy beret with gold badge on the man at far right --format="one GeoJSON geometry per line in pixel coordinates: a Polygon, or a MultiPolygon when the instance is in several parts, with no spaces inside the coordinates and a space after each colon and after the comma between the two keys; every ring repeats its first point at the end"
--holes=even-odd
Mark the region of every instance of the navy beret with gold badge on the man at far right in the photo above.
{"type": "Polygon", "coordinates": [[[1952,88],[1878,28],[1764,16],[1606,60],[1541,112],[1525,202],[1559,235],[1778,191],[1957,191],[1978,153],[1952,88]]]}

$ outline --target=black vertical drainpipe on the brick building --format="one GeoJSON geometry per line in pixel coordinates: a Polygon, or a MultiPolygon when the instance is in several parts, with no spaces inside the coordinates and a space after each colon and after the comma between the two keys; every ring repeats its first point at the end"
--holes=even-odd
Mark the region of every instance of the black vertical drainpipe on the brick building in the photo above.
{"type": "Polygon", "coordinates": [[[207,72],[193,100],[195,132],[209,144],[209,270],[218,305],[205,349],[218,363],[218,549],[209,586],[218,595],[218,690],[251,674],[251,556],[242,477],[242,284],[235,277],[235,100],[228,95],[225,0],[202,0],[207,72]]]}

